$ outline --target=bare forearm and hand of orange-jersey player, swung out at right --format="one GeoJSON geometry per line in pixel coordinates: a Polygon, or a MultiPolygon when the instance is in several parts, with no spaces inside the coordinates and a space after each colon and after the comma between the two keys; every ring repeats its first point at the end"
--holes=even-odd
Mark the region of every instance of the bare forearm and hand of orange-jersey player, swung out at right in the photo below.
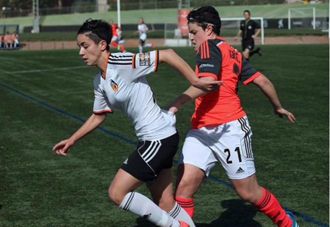
{"type": "Polygon", "coordinates": [[[269,99],[275,114],[280,117],[282,117],[282,115],[285,115],[291,123],[294,123],[294,115],[281,106],[274,85],[265,75],[261,73],[259,76],[253,79],[252,82],[256,84],[269,99]]]}

